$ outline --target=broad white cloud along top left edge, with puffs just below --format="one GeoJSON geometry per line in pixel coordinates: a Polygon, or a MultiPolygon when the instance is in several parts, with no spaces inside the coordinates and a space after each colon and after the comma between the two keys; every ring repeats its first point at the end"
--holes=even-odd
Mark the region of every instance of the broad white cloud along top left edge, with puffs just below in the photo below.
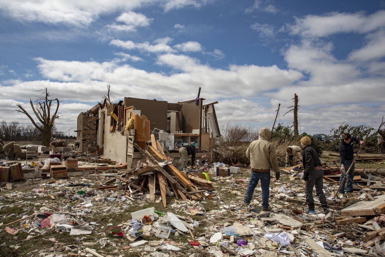
{"type": "MultiPolygon", "coordinates": [[[[14,20],[44,22],[49,24],[67,24],[75,26],[89,25],[99,19],[100,15],[113,12],[129,12],[146,5],[162,5],[167,12],[183,7],[200,8],[214,0],[94,0],[94,1],[60,1],[60,0],[2,0],[0,10],[14,20]]],[[[136,19],[121,18],[128,22],[146,22],[143,17],[136,19]]],[[[149,20],[147,20],[149,21],[149,20]]],[[[130,24],[127,26],[134,26],[130,24]]],[[[123,28],[113,26],[115,29],[123,28]]],[[[128,29],[128,27],[126,27],[128,29]]]]}

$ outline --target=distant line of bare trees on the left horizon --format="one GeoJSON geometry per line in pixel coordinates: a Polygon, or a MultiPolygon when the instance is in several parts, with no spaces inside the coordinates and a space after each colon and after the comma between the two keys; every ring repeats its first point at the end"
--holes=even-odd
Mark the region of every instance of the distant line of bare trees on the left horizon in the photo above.
{"type": "MultiPolygon", "coordinates": [[[[0,139],[4,141],[31,140],[35,143],[42,141],[42,133],[34,125],[21,125],[17,121],[7,123],[3,120],[0,123],[0,139]]],[[[73,135],[66,135],[66,132],[52,128],[51,139],[76,139],[73,135]]]]}

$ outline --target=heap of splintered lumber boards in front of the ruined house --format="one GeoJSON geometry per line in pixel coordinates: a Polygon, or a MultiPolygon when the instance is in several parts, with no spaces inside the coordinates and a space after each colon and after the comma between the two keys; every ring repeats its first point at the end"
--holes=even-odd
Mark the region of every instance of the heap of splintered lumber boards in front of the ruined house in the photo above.
{"type": "Polygon", "coordinates": [[[156,201],[161,197],[164,207],[166,207],[166,196],[179,196],[184,201],[198,200],[204,196],[206,191],[213,191],[214,182],[199,178],[194,174],[187,175],[185,172],[178,171],[175,166],[169,163],[168,157],[164,154],[159,142],[151,135],[151,144],[142,148],[134,143],[146,161],[137,167],[115,176],[104,186],[98,189],[114,190],[123,189],[129,191],[130,195],[135,193],[149,193],[151,201],[156,201]],[[164,165],[166,163],[166,165],[164,165]],[[169,164],[167,164],[169,163],[169,164]],[[156,196],[156,191],[161,192],[156,196]]]}

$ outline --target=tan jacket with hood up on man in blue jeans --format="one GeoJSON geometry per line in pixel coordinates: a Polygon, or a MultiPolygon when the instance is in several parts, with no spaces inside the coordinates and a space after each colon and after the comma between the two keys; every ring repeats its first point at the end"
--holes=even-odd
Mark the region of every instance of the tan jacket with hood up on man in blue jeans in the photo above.
{"type": "Polygon", "coordinates": [[[268,128],[261,128],[257,140],[250,143],[246,156],[250,159],[250,166],[254,169],[271,169],[280,172],[275,146],[270,142],[271,132],[268,128]]]}

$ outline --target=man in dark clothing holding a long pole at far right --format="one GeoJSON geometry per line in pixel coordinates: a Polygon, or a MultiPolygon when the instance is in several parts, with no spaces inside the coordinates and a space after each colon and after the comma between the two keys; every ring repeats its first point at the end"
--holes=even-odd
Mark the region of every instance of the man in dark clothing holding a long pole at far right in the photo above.
{"type": "MultiPolygon", "coordinates": [[[[341,170],[347,172],[349,170],[349,167],[352,166],[353,162],[353,146],[354,142],[360,143],[361,145],[364,145],[363,141],[358,140],[355,137],[352,137],[349,133],[345,133],[342,136],[340,147],[338,148],[338,151],[340,152],[340,164],[341,164],[341,170]]],[[[348,176],[351,179],[346,179],[346,193],[353,193],[353,178],[354,178],[354,163],[352,168],[350,169],[348,176]]],[[[341,173],[340,177],[340,184],[342,182],[342,179],[345,177],[345,174],[341,173]]],[[[345,193],[345,183],[340,188],[340,191],[338,191],[339,194],[345,193]]]]}

